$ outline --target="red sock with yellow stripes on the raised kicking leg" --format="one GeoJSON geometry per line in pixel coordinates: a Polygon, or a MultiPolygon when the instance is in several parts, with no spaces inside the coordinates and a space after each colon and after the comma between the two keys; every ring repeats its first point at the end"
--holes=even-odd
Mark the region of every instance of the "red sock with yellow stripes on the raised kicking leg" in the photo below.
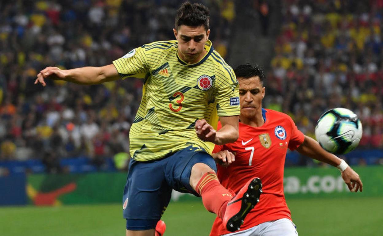
{"type": "Polygon", "coordinates": [[[226,204],[234,194],[225,189],[218,181],[214,172],[205,173],[196,186],[196,192],[202,197],[202,202],[209,212],[216,213],[222,218],[226,204]]]}

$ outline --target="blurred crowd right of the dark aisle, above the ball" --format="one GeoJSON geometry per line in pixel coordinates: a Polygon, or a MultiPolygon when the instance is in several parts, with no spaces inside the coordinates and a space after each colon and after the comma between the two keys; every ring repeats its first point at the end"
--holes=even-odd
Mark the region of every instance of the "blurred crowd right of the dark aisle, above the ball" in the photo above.
{"type": "Polygon", "coordinates": [[[268,107],[290,114],[312,137],[324,111],[346,107],[363,122],[360,147],[381,148],[383,1],[282,3],[268,107]]]}

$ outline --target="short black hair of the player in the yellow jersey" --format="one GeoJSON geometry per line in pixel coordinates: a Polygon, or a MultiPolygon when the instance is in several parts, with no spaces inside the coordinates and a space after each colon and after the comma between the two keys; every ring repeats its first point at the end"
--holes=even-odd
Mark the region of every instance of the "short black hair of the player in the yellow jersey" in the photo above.
{"type": "Polygon", "coordinates": [[[209,8],[201,3],[191,4],[189,1],[182,3],[181,7],[177,10],[175,16],[175,29],[179,29],[181,25],[186,26],[205,26],[205,30],[210,29],[209,26],[209,8]]]}

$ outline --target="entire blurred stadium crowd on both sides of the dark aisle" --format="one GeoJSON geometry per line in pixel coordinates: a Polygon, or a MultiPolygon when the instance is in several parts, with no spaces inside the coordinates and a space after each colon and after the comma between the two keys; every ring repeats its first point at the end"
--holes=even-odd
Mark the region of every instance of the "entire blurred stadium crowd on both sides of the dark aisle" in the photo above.
{"type": "MultiPolygon", "coordinates": [[[[106,65],[144,43],[173,39],[181,2],[0,3],[0,160],[39,159],[49,166],[58,158],[88,156],[102,166],[106,157],[128,152],[141,80],[97,86],[48,81],[43,88],[33,84],[36,74],[49,65],[106,65]]],[[[234,1],[200,2],[210,7],[210,39],[225,57],[234,1]]],[[[267,108],[290,114],[311,136],[324,110],[349,108],[363,122],[360,146],[381,148],[383,1],[282,2],[267,108]]]]}

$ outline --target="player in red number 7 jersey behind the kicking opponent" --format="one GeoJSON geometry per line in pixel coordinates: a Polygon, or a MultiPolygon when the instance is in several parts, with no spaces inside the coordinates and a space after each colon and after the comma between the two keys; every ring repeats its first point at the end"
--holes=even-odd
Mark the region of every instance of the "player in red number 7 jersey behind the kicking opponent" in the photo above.
{"type": "Polygon", "coordinates": [[[225,188],[237,192],[250,176],[258,176],[262,179],[263,192],[260,202],[246,216],[240,231],[230,233],[223,227],[221,219],[216,218],[210,236],[298,235],[283,194],[287,148],[338,167],[350,191],[362,192],[358,174],[343,160],[300,132],[288,115],[262,108],[265,87],[261,69],[246,64],[240,65],[234,72],[239,81],[241,104],[239,138],[234,143],[215,146],[213,157],[220,164],[218,179],[225,188]]]}

